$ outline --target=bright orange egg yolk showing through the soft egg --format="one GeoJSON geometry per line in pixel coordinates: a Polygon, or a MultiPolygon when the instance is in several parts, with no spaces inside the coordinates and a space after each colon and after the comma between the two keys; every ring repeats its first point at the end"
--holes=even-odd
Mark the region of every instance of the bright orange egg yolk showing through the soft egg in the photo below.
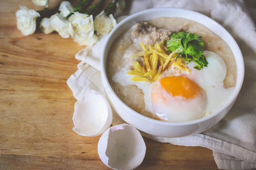
{"type": "Polygon", "coordinates": [[[172,96],[192,99],[200,92],[200,87],[191,79],[183,76],[167,76],[159,80],[161,86],[172,96]]]}

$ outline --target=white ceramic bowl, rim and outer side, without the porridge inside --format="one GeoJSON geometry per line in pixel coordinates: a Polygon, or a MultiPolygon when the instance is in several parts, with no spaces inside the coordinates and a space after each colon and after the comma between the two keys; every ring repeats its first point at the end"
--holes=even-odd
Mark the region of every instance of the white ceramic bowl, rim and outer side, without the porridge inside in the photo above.
{"type": "Polygon", "coordinates": [[[110,32],[101,53],[102,83],[104,84],[105,91],[108,94],[110,101],[114,105],[114,109],[117,111],[119,116],[123,118],[123,120],[131,125],[134,125],[137,129],[145,133],[161,137],[183,137],[186,135],[198,134],[211,128],[213,125],[216,125],[217,122],[219,122],[230,111],[234,102],[236,101],[237,95],[240,92],[243,83],[244,70],[241,50],[236,41],[225,28],[214,20],[208,18],[208,16],[181,8],[152,8],[128,16],[126,19],[122,20],[122,22],[120,22],[117,27],[112,30],[112,32],[110,32]],[[228,101],[226,101],[224,107],[222,107],[218,112],[210,114],[210,116],[200,118],[199,120],[189,122],[163,122],[148,118],[138,112],[135,112],[125,103],[123,103],[123,101],[114,93],[106,75],[106,61],[108,59],[110,47],[112,46],[113,42],[135,22],[159,17],[179,17],[203,24],[205,27],[209,28],[211,31],[220,36],[222,40],[224,40],[230,46],[237,63],[237,82],[233,95],[228,101]]]}

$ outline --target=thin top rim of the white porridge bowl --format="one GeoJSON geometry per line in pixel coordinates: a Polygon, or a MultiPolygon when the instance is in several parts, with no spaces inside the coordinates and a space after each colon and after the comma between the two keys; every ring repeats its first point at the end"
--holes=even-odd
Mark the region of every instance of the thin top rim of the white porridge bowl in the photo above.
{"type": "MultiPolygon", "coordinates": [[[[164,17],[164,16],[163,16],[164,17]]],[[[157,17],[156,17],[157,18],[157,17]]],[[[193,20],[195,22],[195,20],[193,20]]],[[[207,27],[206,25],[204,25],[205,27],[207,27]]],[[[207,27],[208,28],[208,27],[207,27]]],[[[208,28],[209,29],[209,28],[208,28]]],[[[217,34],[217,33],[216,33],[217,34]]],[[[218,35],[219,36],[219,35],[218,35]]],[[[220,36],[219,36],[220,37],[220,36]]],[[[226,42],[228,44],[228,42],[226,42]]],[[[230,43],[229,43],[230,44],[230,43]]],[[[109,52],[109,51],[108,51],[109,52]]],[[[237,64],[237,59],[236,57],[235,58],[235,61],[236,61],[236,64],[237,64]]],[[[242,57],[242,53],[241,53],[241,50],[236,42],[236,40],[234,40],[233,36],[230,35],[230,33],[228,31],[226,31],[226,29],[224,27],[222,27],[222,25],[220,25],[219,23],[217,23],[215,20],[213,20],[212,18],[209,18],[208,16],[204,15],[204,14],[201,14],[199,12],[196,12],[196,11],[192,11],[192,10],[187,10],[187,9],[184,9],[184,8],[177,8],[177,7],[158,7],[158,8],[150,8],[150,9],[147,9],[147,10],[143,10],[143,11],[139,11],[139,12],[136,12],[135,14],[132,14],[132,15],[129,15],[127,16],[127,18],[123,19],[121,22],[119,22],[117,24],[117,26],[114,27],[114,29],[109,33],[108,37],[106,38],[106,41],[105,41],[105,44],[103,46],[103,49],[102,49],[102,52],[101,52],[101,77],[102,77],[102,81],[105,81],[106,82],[106,86],[108,88],[108,90],[114,95],[115,99],[117,99],[122,105],[123,107],[125,107],[128,111],[130,111],[131,113],[133,114],[136,114],[136,116],[139,116],[141,118],[143,118],[145,121],[150,121],[152,123],[156,123],[156,124],[161,124],[161,125],[171,125],[171,126],[184,126],[184,125],[193,125],[193,124],[198,124],[200,122],[204,122],[206,120],[209,120],[210,118],[212,117],[215,117],[217,116],[219,113],[221,113],[222,111],[224,111],[226,108],[228,108],[230,105],[232,105],[233,101],[236,100],[240,90],[241,90],[241,87],[242,87],[242,84],[243,84],[243,79],[244,79],[244,74],[245,74],[245,66],[244,66],[244,61],[243,61],[243,57],[242,57]],[[105,58],[108,57],[108,53],[105,52],[107,46],[108,46],[108,42],[110,41],[110,39],[112,38],[113,34],[115,31],[117,31],[118,28],[120,28],[123,24],[125,24],[126,22],[129,22],[130,20],[132,20],[133,18],[136,18],[137,16],[139,15],[142,15],[142,14],[145,14],[147,12],[156,12],[156,11],[159,11],[159,10],[180,10],[182,12],[190,12],[191,14],[195,14],[197,16],[201,16],[203,17],[204,19],[208,19],[210,22],[212,22],[213,24],[216,25],[216,27],[220,27],[222,29],[222,31],[224,31],[225,35],[229,36],[230,37],[230,40],[233,41],[233,44],[236,46],[237,48],[237,52],[236,54],[233,53],[233,50],[232,50],[232,53],[234,54],[234,56],[238,56],[238,58],[241,58],[241,61],[240,61],[240,69],[238,70],[238,66],[237,66],[237,73],[241,73],[241,76],[240,76],[240,79],[238,79],[238,74],[237,74],[237,80],[236,80],[236,86],[234,87],[234,92],[232,94],[232,96],[229,98],[228,101],[226,101],[226,103],[222,106],[221,109],[219,109],[218,111],[208,115],[208,116],[205,116],[203,118],[199,118],[197,120],[193,120],[193,121],[187,121],[187,122],[166,122],[166,121],[160,121],[160,120],[155,120],[153,118],[150,118],[150,117],[146,117],[144,116],[143,114],[141,113],[138,113],[137,111],[134,111],[133,109],[131,109],[128,105],[126,105],[118,96],[117,94],[115,94],[113,88],[111,87],[110,83],[109,83],[109,79],[108,79],[108,76],[106,74],[106,61],[107,59],[105,60],[105,58]]],[[[106,88],[106,87],[105,87],[106,88]]],[[[104,88],[104,90],[106,91],[106,89],[104,88]]]]}

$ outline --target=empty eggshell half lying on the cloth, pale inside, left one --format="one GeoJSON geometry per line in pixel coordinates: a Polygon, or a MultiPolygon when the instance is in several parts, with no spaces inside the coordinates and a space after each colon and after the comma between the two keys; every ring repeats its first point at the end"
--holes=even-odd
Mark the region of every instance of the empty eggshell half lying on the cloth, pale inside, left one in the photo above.
{"type": "Polygon", "coordinates": [[[112,109],[106,98],[94,90],[87,91],[75,103],[73,130],[85,137],[102,134],[112,123],[112,109]]]}

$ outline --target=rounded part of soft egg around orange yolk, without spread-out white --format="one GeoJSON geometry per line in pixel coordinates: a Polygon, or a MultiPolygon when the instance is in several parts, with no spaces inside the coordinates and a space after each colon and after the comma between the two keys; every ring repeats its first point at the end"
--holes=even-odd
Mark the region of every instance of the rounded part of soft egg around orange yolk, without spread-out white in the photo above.
{"type": "Polygon", "coordinates": [[[203,116],[207,100],[203,89],[183,76],[167,76],[151,91],[155,114],[164,121],[183,122],[203,116]]]}

